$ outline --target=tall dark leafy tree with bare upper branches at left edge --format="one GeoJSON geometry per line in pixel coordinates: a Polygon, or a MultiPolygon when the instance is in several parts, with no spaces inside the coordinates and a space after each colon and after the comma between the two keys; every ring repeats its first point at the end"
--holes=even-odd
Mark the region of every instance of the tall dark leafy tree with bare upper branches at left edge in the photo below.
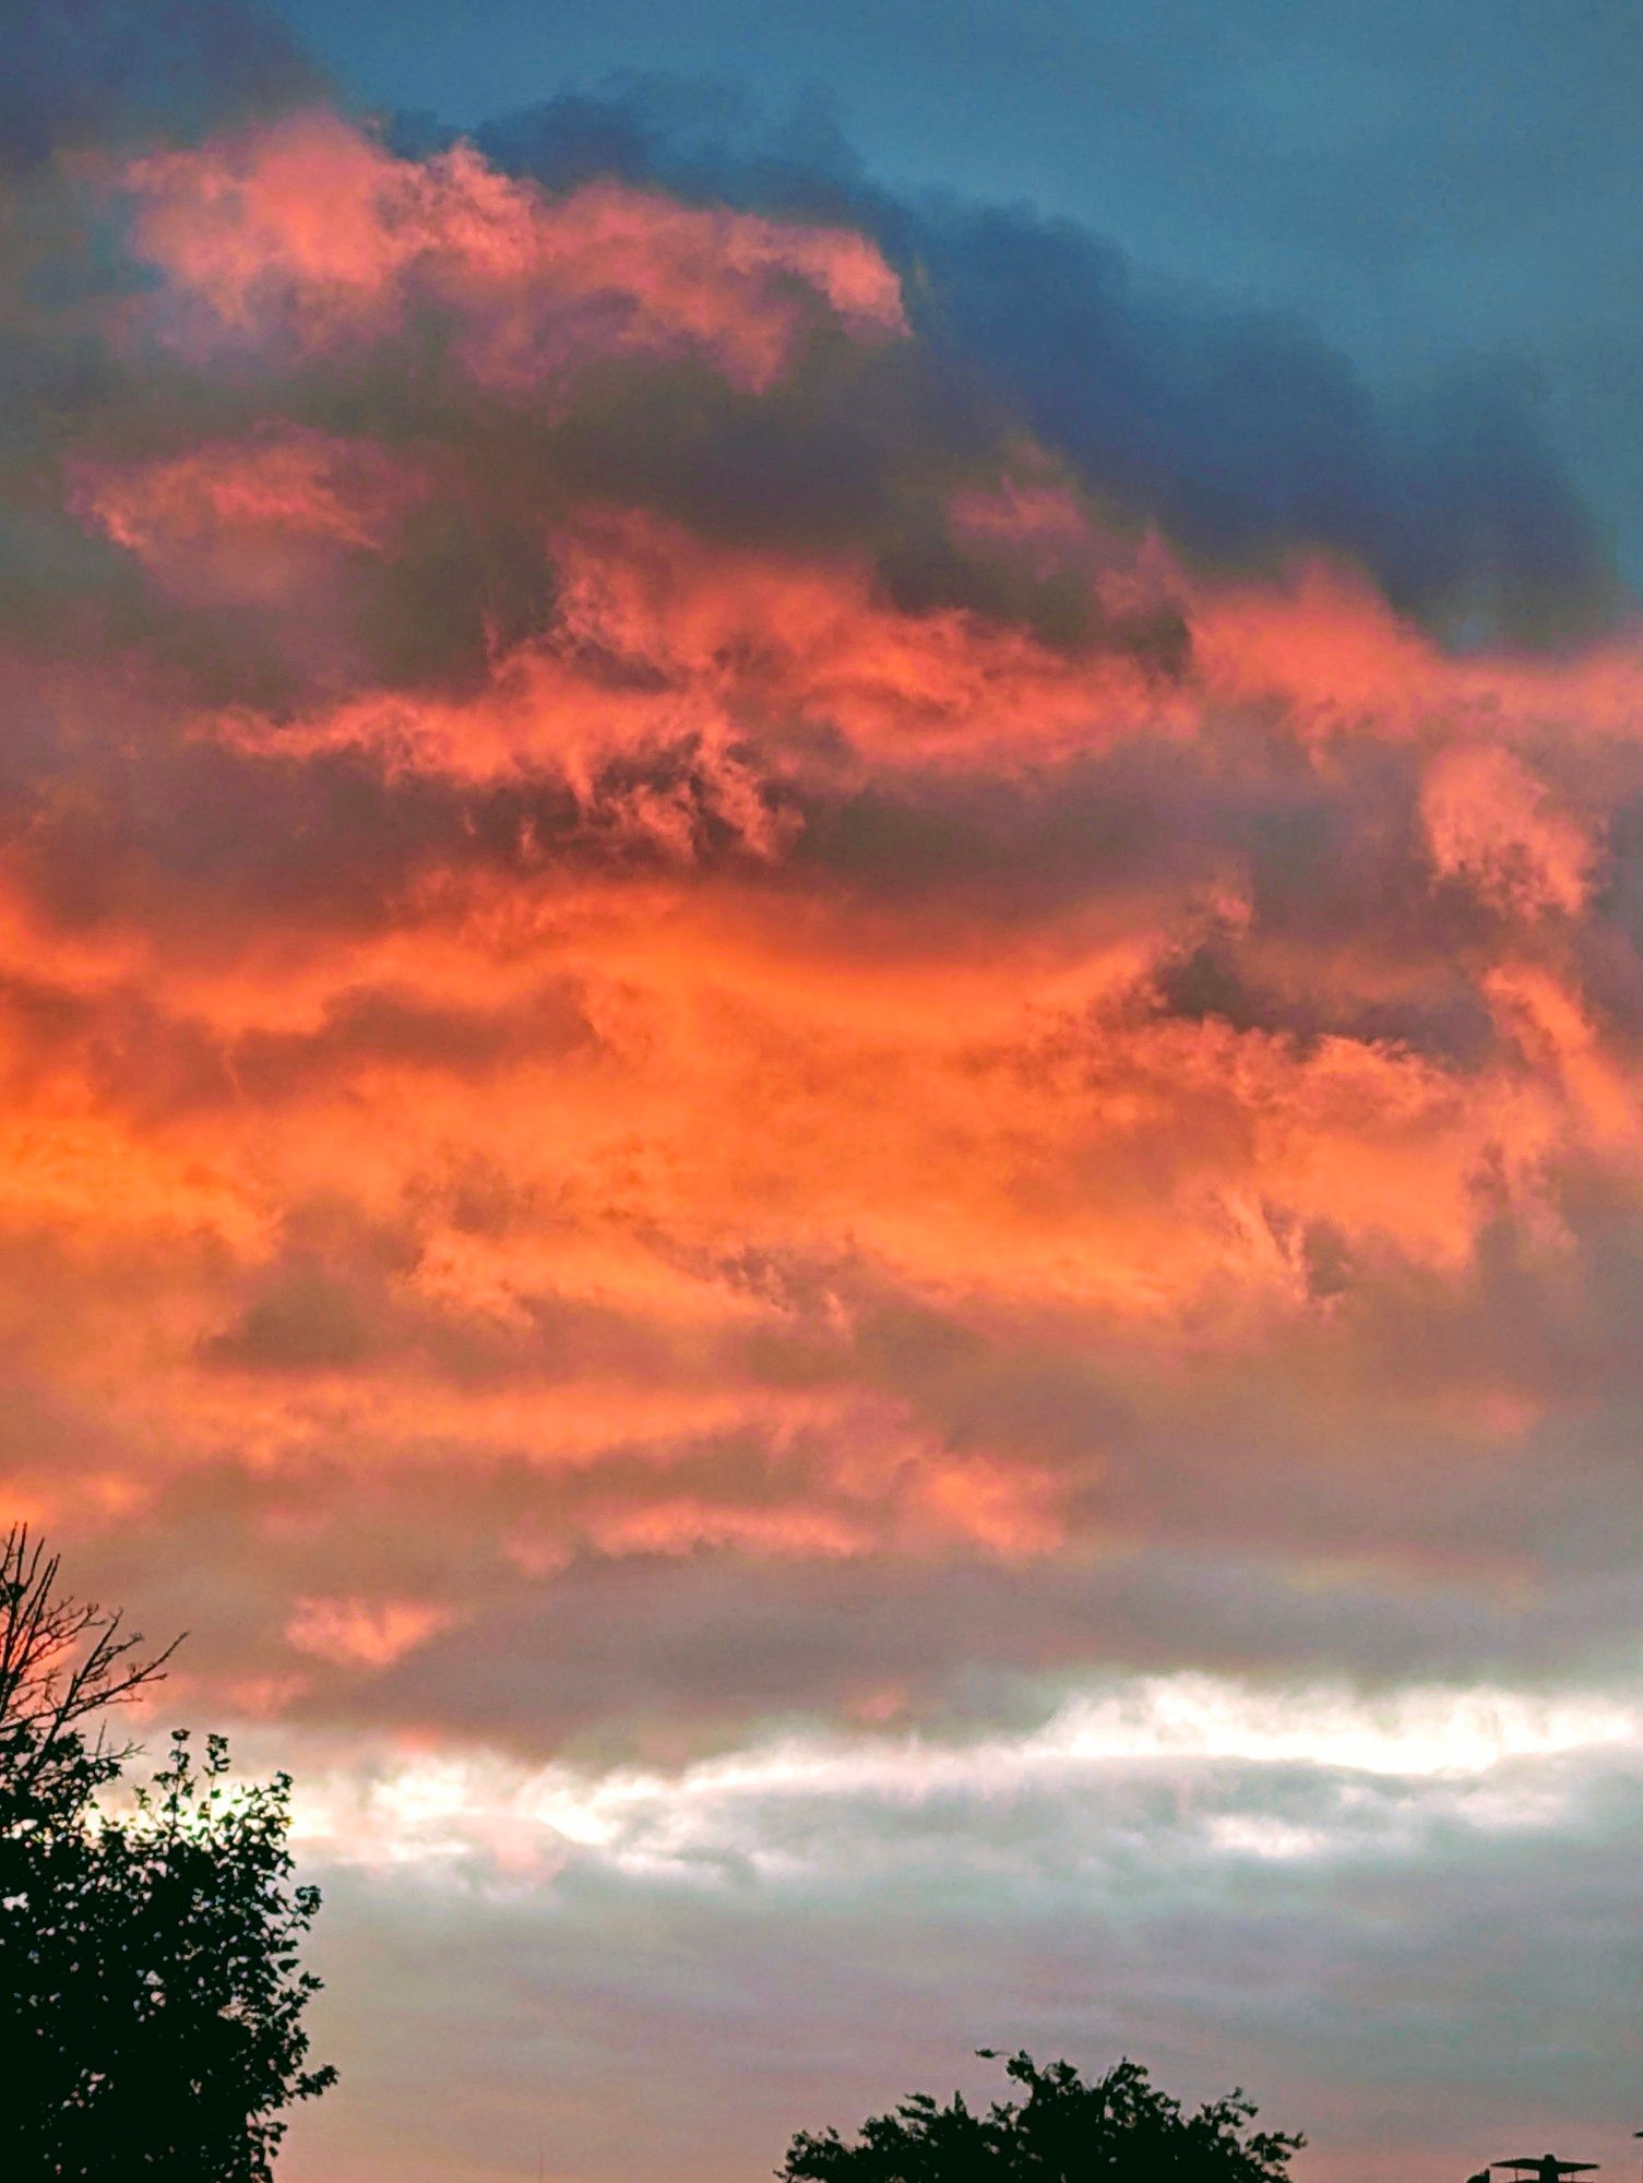
{"type": "Polygon", "coordinates": [[[118,1615],[66,1598],[57,1559],[0,1550],[0,2096],[7,2176],[267,2183],[308,2067],[319,1908],[291,1886],[291,1779],[236,1788],[223,1738],[173,1735],[127,1812],[101,1716],[164,1674],[118,1615]],[[96,1733],[92,1722],[98,1720],[96,1733]],[[15,2067],[11,2067],[15,2061],[15,2067]]]}

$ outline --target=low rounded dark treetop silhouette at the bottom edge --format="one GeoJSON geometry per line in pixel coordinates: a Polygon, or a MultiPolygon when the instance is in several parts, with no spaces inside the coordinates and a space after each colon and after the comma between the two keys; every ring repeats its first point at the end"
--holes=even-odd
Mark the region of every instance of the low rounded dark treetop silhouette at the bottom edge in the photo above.
{"type": "MultiPolygon", "coordinates": [[[[988,2061],[990,2048],[979,2050],[988,2061]]],[[[953,2093],[946,2107],[915,2091],[861,2137],[800,2131],[778,2170],[782,2183],[1283,2183],[1304,2139],[1252,2131],[1241,2091],[1184,2113],[1134,2061],[1086,2085],[1071,2063],[1040,2069],[1029,2054],[1005,2063],[1025,2100],[985,2113],[953,2093]]]]}

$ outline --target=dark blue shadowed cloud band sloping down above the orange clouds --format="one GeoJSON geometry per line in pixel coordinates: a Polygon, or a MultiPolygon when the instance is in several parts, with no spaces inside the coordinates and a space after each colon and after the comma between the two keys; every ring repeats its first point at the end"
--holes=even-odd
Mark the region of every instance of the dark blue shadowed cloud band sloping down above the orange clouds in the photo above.
{"type": "Polygon", "coordinates": [[[1213,559],[1341,552],[1451,631],[1556,637],[1619,600],[1601,524],[1521,373],[1451,369],[1422,397],[1376,397],[1304,323],[1149,279],[1073,220],[896,199],[837,129],[771,129],[728,94],[688,98],[642,74],[566,92],[478,140],[557,188],[614,172],[688,196],[846,210],[905,269],[944,371],[983,375],[1101,491],[1213,559]]]}

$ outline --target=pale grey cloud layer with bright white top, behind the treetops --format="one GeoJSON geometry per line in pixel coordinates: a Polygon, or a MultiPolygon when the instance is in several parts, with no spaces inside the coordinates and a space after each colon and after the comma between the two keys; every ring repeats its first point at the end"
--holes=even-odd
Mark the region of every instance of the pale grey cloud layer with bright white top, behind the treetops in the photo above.
{"type": "Polygon", "coordinates": [[[1234,2069],[1344,2183],[1390,2157],[1453,2174],[1490,2133],[1542,2142],[1575,2113],[1577,2144],[1619,2148],[1599,1991],[1636,1722],[1604,1742],[1617,1727],[1508,1692],[1383,1709],[1160,1683],[959,1751],[310,1768],[306,1853],[339,1858],[328,1969],[387,2019],[334,2024],[365,2113],[304,2118],[291,2159],[352,2174],[369,2128],[413,2174],[483,2172],[542,2128],[575,2174],[625,2172],[634,2146],[752,2170],[918,2085],[992,2096],[970,2050],[1016,2041],[1090,2063],[1145,2045],[1195,2098],[1234,2069]],[[428,1991],[435,2011],[402,2000],[428,1991]],[[452,2037],[472,2091],[424,2120],[409,2069],[452,2037]]]}

